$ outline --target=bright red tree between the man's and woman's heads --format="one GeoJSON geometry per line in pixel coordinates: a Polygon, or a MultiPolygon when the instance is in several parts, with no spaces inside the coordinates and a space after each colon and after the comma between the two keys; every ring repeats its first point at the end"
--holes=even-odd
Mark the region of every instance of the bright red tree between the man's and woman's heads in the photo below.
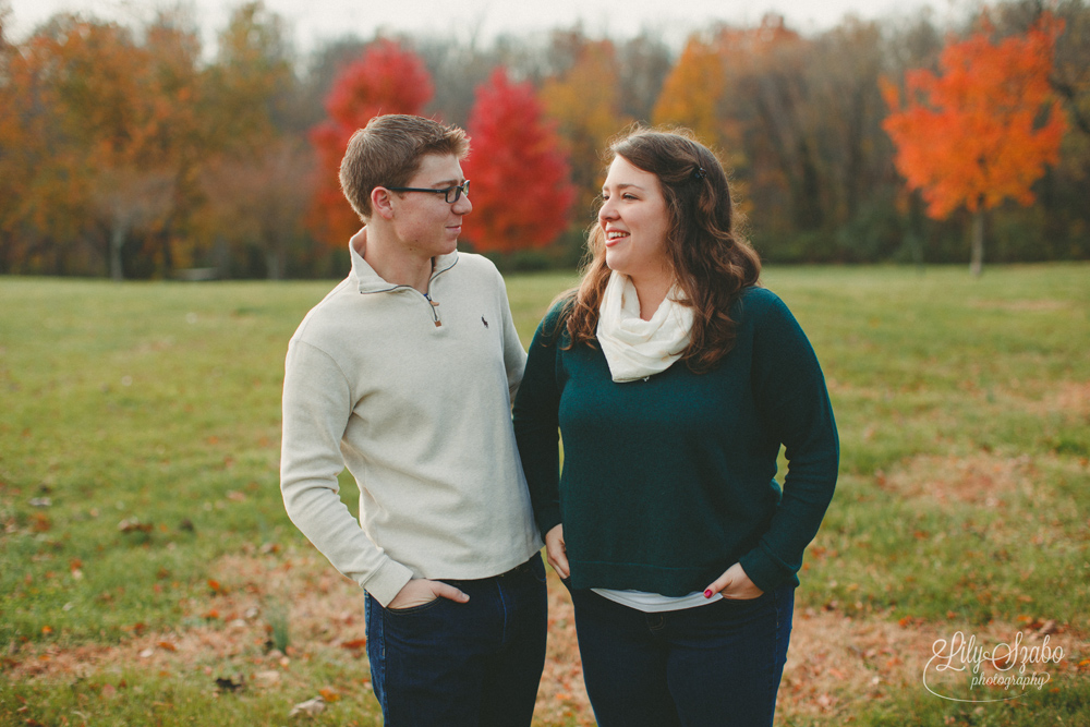
{"type": "Polygon", "coordinates": [[[499,68],[477,88],[470,112],[473,213],[464,237],[481,251],[543,247],[568,226],[576,198],[556,124],[529,83],[499,68]]]}

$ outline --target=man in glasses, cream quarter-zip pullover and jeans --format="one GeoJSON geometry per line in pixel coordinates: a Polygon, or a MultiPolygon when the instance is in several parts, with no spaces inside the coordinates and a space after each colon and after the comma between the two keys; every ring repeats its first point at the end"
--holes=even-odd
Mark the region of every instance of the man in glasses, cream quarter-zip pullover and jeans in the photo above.
{"type": "Polygon", "coordinates": [[[386,727],[529,725],[545,661],[545,570],[510,413],[525,352],[495,266],[456,251],[468,150],[460,129],[420,117],[355,133],[340,170],[365,222],[352,270],[286,363],[284,506],[366,591],[386,727]],[[338,494],[344,467],[360,522],[338,494]]]}

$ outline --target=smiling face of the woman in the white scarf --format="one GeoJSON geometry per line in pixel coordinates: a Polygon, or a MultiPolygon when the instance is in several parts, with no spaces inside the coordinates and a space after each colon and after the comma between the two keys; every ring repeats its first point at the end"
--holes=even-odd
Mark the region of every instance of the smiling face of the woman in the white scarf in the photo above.
{"type": "Polygon", "coordinates": [[[669,278],[666,234],[670,218],[658,178],[617,156],[602,185],[598,223],[605,232],[606,265],[633,282],[669,278]]]}

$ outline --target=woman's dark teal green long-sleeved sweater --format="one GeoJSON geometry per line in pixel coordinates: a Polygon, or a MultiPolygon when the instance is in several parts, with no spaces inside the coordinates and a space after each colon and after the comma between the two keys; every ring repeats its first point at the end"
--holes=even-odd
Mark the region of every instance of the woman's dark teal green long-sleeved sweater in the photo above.
{"type": "Polygon", "coordinates": [[[678,362],[625,384],[600,347],[565,350],[561,313],[534,335],[514,433],[542,535],[564,523],[572,587],[680,596],[739,561],[763,591],[798,585],[839,446],[818,358],[783,301],[743,291],[735,348],[711,372],[678,362]]]}

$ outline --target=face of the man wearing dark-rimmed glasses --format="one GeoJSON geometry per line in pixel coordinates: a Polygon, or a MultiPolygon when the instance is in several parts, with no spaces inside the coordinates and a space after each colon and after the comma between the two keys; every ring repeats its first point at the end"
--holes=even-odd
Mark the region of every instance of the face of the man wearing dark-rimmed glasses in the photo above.
{"type": "MultiPolygon", "coordinates": [[[[405,186],[444,190],[465,181],[453,155],[429,154],[405,186]]],[[[404,251],[415,257],[435,257],[455,251],[462,231],[462,217],[473,205],[468,195],[448,203],[441,194],[391,192],[393,229],[404,251]]]]}

